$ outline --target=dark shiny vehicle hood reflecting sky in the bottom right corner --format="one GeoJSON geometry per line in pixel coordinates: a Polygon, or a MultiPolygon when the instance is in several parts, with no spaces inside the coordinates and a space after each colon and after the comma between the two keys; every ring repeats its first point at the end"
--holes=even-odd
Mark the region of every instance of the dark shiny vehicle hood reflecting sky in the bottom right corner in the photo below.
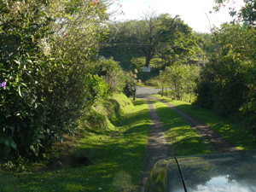
{"type": "Polygon", "coordinates": [[[160,160],[152,169],[147,192],[254,192],[256,150],[160,160]]]}

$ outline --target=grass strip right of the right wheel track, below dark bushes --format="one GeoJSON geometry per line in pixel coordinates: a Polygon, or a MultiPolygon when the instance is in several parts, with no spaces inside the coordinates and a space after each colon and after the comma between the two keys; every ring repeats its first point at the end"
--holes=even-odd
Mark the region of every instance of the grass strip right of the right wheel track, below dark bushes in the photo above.
{"type": "Polygon", "coordinates": [[[210,125],[213,130],[218,131],[224,138],[230,143],[233,143],[241,150],[256,149],[256,134],[255,132],[244,129],[239,125],[232,124],[230,119],[220,117],[217,113],[212,112],[206,108],[199,108],[191,105],[189,102],[181,102],[177,100],[171,100],[169,98],[160,97],[160,95],[154,95],[158,98],[172,103],[172,105],[183,111],[191,114],[197,119],[202,120],[207,125],[210,125]]]}

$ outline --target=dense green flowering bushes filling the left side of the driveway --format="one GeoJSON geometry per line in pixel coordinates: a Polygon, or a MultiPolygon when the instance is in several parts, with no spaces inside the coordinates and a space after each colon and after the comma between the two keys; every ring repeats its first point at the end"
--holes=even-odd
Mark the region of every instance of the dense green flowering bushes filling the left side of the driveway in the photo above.
{"type": "Polygon", "coordinates": [[[48,158],[51,144],[73,134],[86,109],[125,86],[117,63],[93,56],[107,30],[110,3],[0,1],[3,162],[22,166],[25,159],[48,158]],[[112,66],[106,75],[115,84],[96,76],[96,63],[112,66]]]}

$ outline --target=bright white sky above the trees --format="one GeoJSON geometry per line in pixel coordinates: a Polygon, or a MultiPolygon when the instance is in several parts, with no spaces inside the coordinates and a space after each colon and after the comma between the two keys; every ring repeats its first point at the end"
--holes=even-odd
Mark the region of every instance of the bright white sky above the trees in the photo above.
{"type": "MultiPolygon", "coordinates": [[[[239,8],[242,0],[236,0],[236,2],[238,2],[236,6],[239,8]]],[[[150,6],[159,14],[168,13],[172,17],[180,15],[181,20],[192,27],[195,32],[210,32],[210,25],[220,26],[222,23],[232,20],[229,9],[221,9],[218,14],[209,14],[214,5],[214,0],[120,0],[119,12],[123,11],[125,15],[116,15],[115,17],[116,20],[142,19],[143,12],[150,6]]]]}

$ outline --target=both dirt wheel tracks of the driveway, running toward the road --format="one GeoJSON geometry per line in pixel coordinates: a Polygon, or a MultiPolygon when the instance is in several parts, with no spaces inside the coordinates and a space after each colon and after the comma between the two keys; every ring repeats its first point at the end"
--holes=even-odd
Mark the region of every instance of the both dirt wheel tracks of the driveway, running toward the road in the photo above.
{"type": "Polygon", "coordinates": [[[183,112],[181,109],[174,107],[169,102],[160,100],[155,97],[148,97],[142,95],[137,97],[142,98],[143,100],[146,100],[148,102],[150,117],[154,120],[154,124],[151,125],[150,131],[148,132],[146,168],[143,172],[143,178],[141,181],[142,192],[145,189],[147,178],[151,168],[158,160],[168,157],[166,139],[164,136],[164,132],[161,128],[160,118],[157,116],[153,103],[150,102],[150,100],[159,100],[160,102],[164,102],[169,108],[172,108],[172,110],[180,114],[183,119],[188,121],[188,124],[192,127],[192,129],[200,131],[201,135],[203,137],[206,137],[209,143],[211,143],[212,146],[216,148],[219,153],[235,153],[240,151],[240,149],[236,148],[236,146],[224,139],[224,137],[218,134],[218,132],[212,130],[209,125],[206,125],[199,119],[195,119],[193,116],[183,112]]]}

